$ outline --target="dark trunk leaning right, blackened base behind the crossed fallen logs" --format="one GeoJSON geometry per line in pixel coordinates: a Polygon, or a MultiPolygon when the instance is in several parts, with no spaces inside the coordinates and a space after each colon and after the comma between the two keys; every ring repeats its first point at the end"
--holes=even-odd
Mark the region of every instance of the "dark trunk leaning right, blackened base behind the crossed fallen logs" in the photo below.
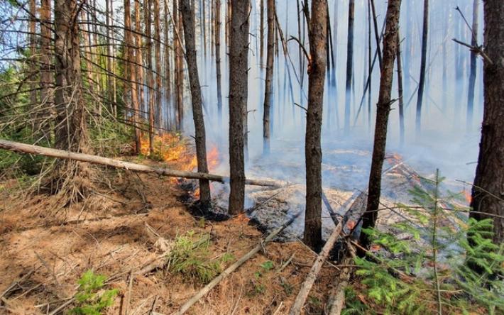
{"type": "MultiPolygon", "coordinates": [[[[369,173],[368,201],[363,214],[362,228],[373,228],[380,205],[381,172],[385,159],[387,143],[388,114],[390,113],[390,93],[392,92],[395,54],[398,45],[398,24],[401,0],[389,0],[385,17],[385,37],[383,38],[383,64],[380,74],[380,91],[376,104],[376,126],[373,145],[373,160],[369,173]]],[[[371,243],[366,233],[361,233],[361,244],[366,247],[371,243]]]]}

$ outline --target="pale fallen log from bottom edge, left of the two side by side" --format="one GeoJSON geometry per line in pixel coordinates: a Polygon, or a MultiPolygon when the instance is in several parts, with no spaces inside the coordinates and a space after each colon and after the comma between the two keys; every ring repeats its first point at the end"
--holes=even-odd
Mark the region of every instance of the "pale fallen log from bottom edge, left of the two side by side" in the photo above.
{"type": "Polygon", "coordinates": [[[312,270],[309,270],[309,274],[307,275],[305,282],[303,282],[303,284],[301,285],[300,292],[297,294],[294,304],[292,304],[290,308],[290,315],[297,315],[301,313],[301,309],[305,305],[306,299],[308,297],[309,290],[312,289],[315,280],[317,280],[317,275],[319,275],[319,272],[322,269],[322,265],[324,265],[325,260],[327,260],[329,251],[333,248],[334,243],[336,243],[336,240],[338,239],[342,229],[343,221],[341,220],[339,221],[336,228],[334,228],[331,236],[329,236],[329,239],[324,244],[324,248],[322,248],[319,255],[315,259],[312,270]]]}

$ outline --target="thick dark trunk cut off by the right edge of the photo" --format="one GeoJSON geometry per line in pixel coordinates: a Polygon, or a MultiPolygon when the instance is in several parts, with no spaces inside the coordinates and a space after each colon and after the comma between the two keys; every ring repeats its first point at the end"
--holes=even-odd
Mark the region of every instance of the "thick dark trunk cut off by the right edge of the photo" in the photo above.
{"type": "MultiPolygon", "coordinates": [[[[484,60],[485,103],[481,143],[472,191],[471,208],[493,218],[493,242],[504,242],[504,6],[500,0],[483,1],[484,48],[492,62],[484,60]]],[[[491,218],[471,212],[471,218],[491,218]]]]}

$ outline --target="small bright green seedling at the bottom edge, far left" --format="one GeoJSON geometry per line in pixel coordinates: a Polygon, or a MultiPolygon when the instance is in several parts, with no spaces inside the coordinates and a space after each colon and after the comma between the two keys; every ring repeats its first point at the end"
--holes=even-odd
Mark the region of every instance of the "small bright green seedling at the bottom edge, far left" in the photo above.
{"type": "Polygon", "coordinates": [[[79,291],[75,294],[78,306],[70,310],[70,314],[99,315],[114,303],[118,290],[104,290],[104,275],[95,275],[92,270],[84,272],[80,280],[79,291]]]}

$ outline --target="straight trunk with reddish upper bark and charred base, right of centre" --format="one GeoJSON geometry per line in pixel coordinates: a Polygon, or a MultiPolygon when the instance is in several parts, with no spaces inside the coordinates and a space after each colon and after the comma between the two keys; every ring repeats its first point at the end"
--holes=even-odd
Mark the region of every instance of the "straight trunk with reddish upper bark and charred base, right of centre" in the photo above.
{"type": "MultiPolygon", "coordinates": [[[[352,0],[353,2],[353,0],[352,0]]],[[[305,243],[322,244],[322,102],[326,77],[327,0],[312,0],[309,18],[308,109],[306,116],[306,211],[305,243]]]]}

